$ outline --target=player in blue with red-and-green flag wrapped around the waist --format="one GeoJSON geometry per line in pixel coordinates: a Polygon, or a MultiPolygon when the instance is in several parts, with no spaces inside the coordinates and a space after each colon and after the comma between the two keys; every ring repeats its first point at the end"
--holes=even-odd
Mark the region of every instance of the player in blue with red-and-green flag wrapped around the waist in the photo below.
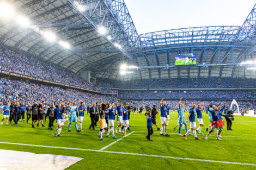
{"type": "Polygon", "coordinates": [[[223,124],[220,122],[220,115],[224,116],[224,117],[228,117],[228,116],[222,115],[220,110],[221,110],[221,106],[220,105],[217,105],[214,108],[214,110],[211,110],[210,107],[208,108],[208,111],[212,115],[212,123],[211,123],[212,126],[211,126],[211,130],[206,135],[205,140],[208,140],[208,137],[210,136],[212,131],[214,131],[216,129],[218,131],[216,140],[222,141],[221,140],[221,132],[222,132],[222,129],[223,129],[223,124]]]}

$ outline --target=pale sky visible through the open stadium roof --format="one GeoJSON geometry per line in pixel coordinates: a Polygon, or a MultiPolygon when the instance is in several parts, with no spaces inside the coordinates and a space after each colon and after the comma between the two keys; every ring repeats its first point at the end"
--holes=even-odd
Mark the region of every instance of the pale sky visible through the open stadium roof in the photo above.
{"type": "Polygon", "coordinates": [[[138,34],[160,30],[242,26],[255,0],[124,0],[138,34]]]}

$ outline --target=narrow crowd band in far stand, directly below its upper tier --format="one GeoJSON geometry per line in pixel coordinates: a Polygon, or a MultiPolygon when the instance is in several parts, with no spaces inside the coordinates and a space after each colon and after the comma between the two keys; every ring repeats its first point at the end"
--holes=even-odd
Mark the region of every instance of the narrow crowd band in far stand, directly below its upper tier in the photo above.
{"type": "Polygon", "coordinates": [[[256,99],[255,90],[118,91],[119,98],[256,99]]]}

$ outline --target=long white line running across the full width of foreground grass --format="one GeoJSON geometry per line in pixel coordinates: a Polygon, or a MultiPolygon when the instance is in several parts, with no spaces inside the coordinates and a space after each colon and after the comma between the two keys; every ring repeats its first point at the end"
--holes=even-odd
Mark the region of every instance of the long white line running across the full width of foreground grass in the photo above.
{"type": "Polygon", "coordinates": [[[228,162],[228,161],[216,161],[216,160],[193,159],[193,158],[179,158],[179,157],[173,157],[173,156],[147,155],[147,154],[126,153],[126,152],[113,152],[113,151],[107,151],[107,150],[66,148],[66,147],[52,147],[52,146],[43,146],[43,145],[34,145],[34,144],[23,144],[23,143],[9,143],[9,142],[0,142],[0,143],[2,143],[2,144],[17,144],[17,145],[32,146],[32,147],[43,147],[43,148],[84,150],[84,151],[91,151],[91,152],[114,153],[114,154],[135,155],[135,156],[148,156],[148,157],[155,157],[155,158],[168,158],[168,159],[177,159],[177,160],[190,160],[190,161],[200,161],[200,162],[214,162],[214,163],[227,163],[227,164],[235,164],[235,165],[256,166],[256,164],[253,164],[253,163],[242,163],[242,162],[228,162]]]}

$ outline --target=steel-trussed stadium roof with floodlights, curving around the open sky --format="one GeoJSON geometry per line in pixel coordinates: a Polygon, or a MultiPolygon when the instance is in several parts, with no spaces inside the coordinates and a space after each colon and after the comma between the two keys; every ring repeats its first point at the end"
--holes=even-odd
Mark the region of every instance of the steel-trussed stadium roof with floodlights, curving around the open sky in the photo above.
{"type": "MultiPolygon", "coordinates": [[[[84,70],[111,79],[173,77],[253,77],[239,66],[255,58],[255,6],[242,26],[163,30],[138,35],[123,0],[8,1],[32,22],[22,28],[2,20],[0,42],[81,74],[84,70]],[[51,31],[69,42],[65,49],[48,42],[51,31]],[[196,66],[175,66],[178,53],[196,53],[196,66]],[[133,74],[119,74],[122,63],[136,65],[133,74]]],[[[246,14],[245,14],[246,15],[246,14]]]]}

